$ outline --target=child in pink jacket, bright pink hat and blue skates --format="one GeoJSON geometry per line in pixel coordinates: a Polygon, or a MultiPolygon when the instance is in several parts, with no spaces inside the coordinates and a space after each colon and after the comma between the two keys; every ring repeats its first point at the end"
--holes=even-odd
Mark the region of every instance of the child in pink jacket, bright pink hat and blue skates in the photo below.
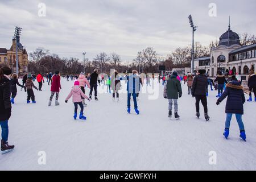
{"type": "Polygon", "coordinates": [[[71,92],[68,94],[68,97],[66,98],[65,102],[68,103],[69,98],[71,98],[72,96],[72,101],[75,105],[74,119],[77,118],[77,106],[79,105],[81,108],[79,119],[85,120],[86,117],[84,116],[84,105],[82,104],[81,97],[86,98],[88,101],[90,101],[90,99],[87,96],[85,96],[79,85],[79,81],[75,81],[74,86],[72,87],[71,92]]]}

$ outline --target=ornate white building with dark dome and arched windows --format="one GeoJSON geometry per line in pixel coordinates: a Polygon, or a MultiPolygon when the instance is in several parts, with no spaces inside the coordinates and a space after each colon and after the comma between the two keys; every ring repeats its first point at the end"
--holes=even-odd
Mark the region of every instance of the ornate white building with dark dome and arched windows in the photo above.
{"type": "Polygon", "coordinates": [[[230,29],[220,37],[218,47],[212,48],[210,57],[195,59],[195,69],[206,69],[209,76],[216,76],[218,71],[248,75],[255,71],[256,44],[241,46],[240,37],[230,29]]]}

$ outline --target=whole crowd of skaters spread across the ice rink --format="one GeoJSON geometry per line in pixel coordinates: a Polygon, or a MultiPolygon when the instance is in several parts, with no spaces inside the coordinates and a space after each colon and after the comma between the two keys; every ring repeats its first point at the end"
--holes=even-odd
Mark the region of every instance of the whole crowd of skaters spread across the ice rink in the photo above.
{"type": "MultiPolygon", "coordinates": [[[[42,91],[44,77],[46,77],[46,81],[48,85],[51,85],[51,94],[49,97],[48,106],[52,105],[53,97],[55,96],[55,105],[59,106],[59,93],[61,90],[61,75],[59,71],[56,71],[54,74],[47,73],[46,75],[42,75],[38,73],[38,75],[32,73],[26,73],[22,77],[22,84],[19,84],[18,75],[15,73],[11,73],[11,69],[9,67],[3,67],[0,69],[0,124],[2,128],[2,140],[1,140],[1,150],[11,150],[14,148],[13,145],[9,145],[8,140],[8,121],[11,117],[11,104],[15,104],[15,97],[17,94],[16,85],[20,86],[21,90],[24,88],[24,91],[27,92],[27,104],[30,104],[30,100],[32,104],[36,104],[35,94],[33,89],[42,91]],[[38,88],[34,85],[34,82],[38,82],[38,88]]],[[[125,80],[127,83],[127,113],[131,113],[131,100],[134,102],[134,111],[136,114],[139,114],[138,110],[138,96],[141,90],[141,86],[144,84],[144,76],[139,74],[137,71],[133,70],[129,73],[126,73],[123,76],[119,76],[118,72],[115,71],[114,75],[101,74],[98,75],[98,69],[94,69],[93,73],[80,73],[80,75],[66,75],[64,78],[67,78],[71,81],[75,80],[74,85],[71,88],[65,102],[67,103],[69,98],[72,97],[72,102],[74,104],[74,115],[73,118],[77,119],[79,115],[79,119],[85,120],[84,116],[84,106],[85,100],[91,101],[92,95],[94,92],[94,100],[98,101],[97,96],[97,86],[100,84],[108,86],[108,92],[111,93],[112,90],[112,98],[115,101],[119,101],[119,90],[121,88],[121,81],[125,80]],[[90,89],[89,97],[85,95],[85,89],[90,89]],[[78,106],[80,106],[80,113],[77,114],[78,106]]],[[[146,75],[146,84],[150,85],[150,80],[154,79],[153,76],[146,75]]],[[[191,94],[192,97],[195,97],[196,100],[196,117],[200,118],[200,102],[204,107],[204,117],[207,121],[209,121],[210,117],[208,115],[208,107],[207,107],[207,96],[209,96],[208,87],[213,90],[212,86],[215,86],[215,82],[217,82],[217,90],[218,95],[216,96],[218,99],[216,101],[217,105],[226,98],[226,122],[225,122],[225,131],[224,136],[228,139],[229,136],[229,126],[232,118],[232,114],[236,115],[238,125],[240,127],[240,137],[243,140],[246,140],[245,135],[245,127],[242,122],[243,115],[243,104],[245,103],[245,96],[243,93],[243,87],[241,86],[241,77],[237,74],[234,75],[222,75],[221,72],[218,72],[217,77],[214,79],[210,78],[205,70],[199,70],[197,73],[188,73],[188,75],[179,76],[177,72],[173,72],[169,75],[164,75],[158,77],[159,83],[162,80],[162,84],[164,86],[164,98],[168,99],[168,117],[172,117],[172,105],[174,105],[174,115],[176,119],[179,119],[180,116],[178,112],[178,104],[177,100],[182,97],[182,89],[181,82],[184,81],[184,84],[188,86],[188,94],[191,94]]],[[[256,90],[256,76],[254,71],[250,72],[249,82],[248,82],[249,90],[250,90],[250,98],[249,102],[252,101],[251,93],[256,90]]],[[[255,98],[256,101],[256,98],[255,98]]]]}

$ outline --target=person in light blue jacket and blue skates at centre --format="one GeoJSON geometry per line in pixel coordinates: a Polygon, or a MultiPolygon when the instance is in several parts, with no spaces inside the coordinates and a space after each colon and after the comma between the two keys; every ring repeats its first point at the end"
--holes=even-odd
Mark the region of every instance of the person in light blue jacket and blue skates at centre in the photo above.
{"type": "Polygon", "coordinates": [[[127,112],[131,112],[131,96],[133,96],[135,113],[139,114],[137,105],[137,94],[139,93],[142,79],[137,75],[137,71],[133,70],[132,74],[128,76],[127,80],[127,112]]]}

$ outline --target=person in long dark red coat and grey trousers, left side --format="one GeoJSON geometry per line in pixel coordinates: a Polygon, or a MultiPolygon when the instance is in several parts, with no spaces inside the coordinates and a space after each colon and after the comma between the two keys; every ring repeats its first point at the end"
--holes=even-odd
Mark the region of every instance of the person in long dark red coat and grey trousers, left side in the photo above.
{"type": "Polygon", "coordinates": [[[53,98],[54,94],[56,94],[55,105],[56,106],[60,105],[60,103],[58,102],[60,89],[61,89],[60,72],[56,71],[55,75],[53,75],[53,77],[52,77],[51,97],[49,98],[48,106],[51,106],[52,98],[53,98]]]}

